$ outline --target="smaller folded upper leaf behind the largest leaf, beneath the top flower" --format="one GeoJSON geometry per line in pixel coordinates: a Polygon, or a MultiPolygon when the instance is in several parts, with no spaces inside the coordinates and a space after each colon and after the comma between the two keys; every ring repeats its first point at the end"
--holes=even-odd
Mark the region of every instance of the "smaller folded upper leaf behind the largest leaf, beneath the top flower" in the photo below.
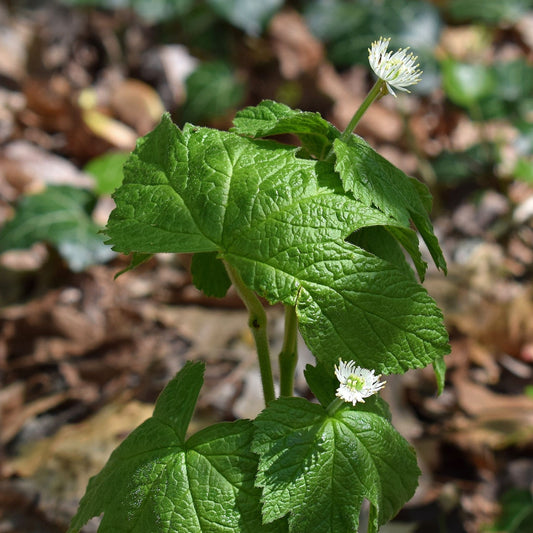
{"type": "Polygon", "coordinates": [[[432,198],[428,188],[406,176],[363,139],[353,135],[343,142],[339,139],[339,130],[318,113],[291,109],[271,100],[239,111],[233,122],[233,131],[253,138],[281,133],[296,135],[304,150],[318,159],[324,159],[333,151],[337,156],[335,169],[345,190],[354,193],[366,205],[374,205],[396,218],[404,226],[390,227],[388,231],[409,253],[420,278],[424,279],[427,264],[420,254],[418,237],[409,229],[410,219],[421,232],[437,266],[446,269],[429,220],[432,198]]]}

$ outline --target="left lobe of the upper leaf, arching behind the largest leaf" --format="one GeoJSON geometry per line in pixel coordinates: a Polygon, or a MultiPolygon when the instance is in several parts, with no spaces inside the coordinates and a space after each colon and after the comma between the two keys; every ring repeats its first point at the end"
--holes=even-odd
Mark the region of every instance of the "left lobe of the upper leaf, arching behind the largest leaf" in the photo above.
{"type": "Polygon", "coordinates": [[[232,131],[254,138],[282,133],[297,135],[302,147],[317,159],[324,159],[340,132],[319,113],[291,109],[285,104],[264,100],[238,111],[232,131]]]}

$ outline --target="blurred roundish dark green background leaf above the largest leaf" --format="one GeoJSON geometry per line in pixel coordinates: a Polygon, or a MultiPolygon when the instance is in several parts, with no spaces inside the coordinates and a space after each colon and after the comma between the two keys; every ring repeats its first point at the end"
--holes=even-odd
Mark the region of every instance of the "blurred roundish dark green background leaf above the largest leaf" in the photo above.
{"type": "Polygon", "coordinates": [[[185,80],[187,100],[183,118],[200,122],[219,117],[236,107],[244,96],[244,86],[234,70],[222,62],[203,63],[185,80]]]}

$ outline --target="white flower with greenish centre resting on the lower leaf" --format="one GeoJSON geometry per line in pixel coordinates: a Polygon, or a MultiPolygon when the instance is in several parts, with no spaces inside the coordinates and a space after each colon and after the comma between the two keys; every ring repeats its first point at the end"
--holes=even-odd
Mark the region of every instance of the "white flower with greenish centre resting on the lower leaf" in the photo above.
{"type": "Polygon", "coordinates": [[[337,396],[345,402],[355,405],[357,402],[365,403],[365,398],[380,391],[386,381],[379,381],[379,376],[373,370],[355,366],[353,361],[345,363],[339,359],[339,366],[335,366],[335,375],[340,382],[337,396]]]}

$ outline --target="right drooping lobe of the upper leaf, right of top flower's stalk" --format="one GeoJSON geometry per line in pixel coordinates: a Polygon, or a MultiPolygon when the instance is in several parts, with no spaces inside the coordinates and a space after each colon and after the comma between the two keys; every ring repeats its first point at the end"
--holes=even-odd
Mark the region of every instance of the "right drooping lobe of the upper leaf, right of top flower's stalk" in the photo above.
{"type": "MultiPolygon", "coordinates": [[[[334,150],[337,156],[335,169],[346,190],[353,192],[363,204],[375,205],[404,227],[409,227],[409,220],[412,220],[435,264],[446,271],[446,261],[427,211],[428,196],[427,193],[421,194],[422,187],[415,186],[411,178],[357,135],[352,135],[347,142],[335,140],[334,150]]],[[[421,272],[425,265],[421,264],[420,256],[411,254],[411,257],[421,272]]]]}

